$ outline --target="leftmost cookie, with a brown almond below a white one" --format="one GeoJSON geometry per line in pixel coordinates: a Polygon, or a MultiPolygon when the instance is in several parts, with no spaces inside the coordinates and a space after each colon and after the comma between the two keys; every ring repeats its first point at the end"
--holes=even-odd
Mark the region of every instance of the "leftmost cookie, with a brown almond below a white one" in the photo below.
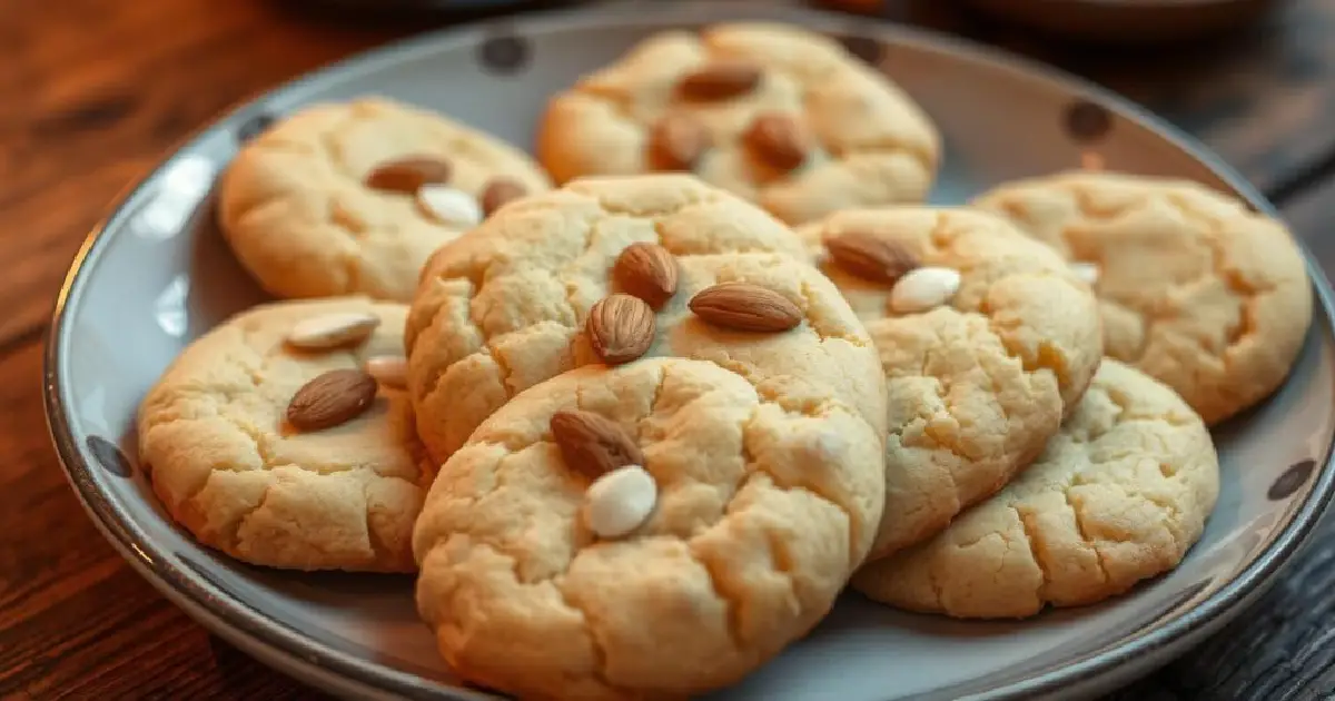
{"type": "Polygon", "coordinates": [[[414,571],[413,522],[434,470],[407,393],[380,387],[364,413],[323,430],[284,421],[294,394],[323,373],[402,357],[406,314],[366,298],[278,302],[191,343],[139,413],[139,454],[167,513],[252,565],[414,571]],[[380,323],[328,350],[287,342],[303,322],[338,314],[380,323]]]}

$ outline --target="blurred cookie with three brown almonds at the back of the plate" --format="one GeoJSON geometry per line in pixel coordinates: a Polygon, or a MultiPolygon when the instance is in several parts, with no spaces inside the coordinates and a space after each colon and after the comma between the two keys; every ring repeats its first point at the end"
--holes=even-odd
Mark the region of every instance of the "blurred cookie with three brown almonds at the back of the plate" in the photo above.
{"type": "Polygon", "coordinates": [[[538,159],[558,182],[692,171],[800,223],[921,202],[940,136],[825,36],[738,23],[654,35],[547,105],[538,159]]]}

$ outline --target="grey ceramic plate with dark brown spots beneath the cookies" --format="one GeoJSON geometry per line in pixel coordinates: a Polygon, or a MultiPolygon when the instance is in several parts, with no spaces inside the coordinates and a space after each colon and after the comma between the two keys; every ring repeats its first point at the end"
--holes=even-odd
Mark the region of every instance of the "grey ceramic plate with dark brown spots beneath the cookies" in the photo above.
{"type": "MultiPolygon", "coordinates": [[[[379,92],[529,146],[547,96],[646,35],[778,19],[840,36],[926,108],[947,144],[937,203],[1003,180],[1103,163],[1193,178],[1270,206],[1199,144],[1076,80],[955,40],[784,3],[585,7],[435,33],[334,65],[223,118],[92,232],[65,282],[47,355],[47,410],[69,478],[108,539],[219,636],[350,697],[489,698],[457,685],[418,622],[409,577],[295,574],[198,547],[158,506],[134,455],[140,397],[228,314],[263,300],[214,228],[214,176],[266,123],[304,103],[379,92]]],[[[1100,606],[1025,622],[951,622],[846,594],[833,614],[717,698],[1087,696],[1163,664],[1255,598],[1310,533],[1332,485],[1331,292],[1284,389],[1215,437],[1223,491],[1176,571],[1100,606]]]]}

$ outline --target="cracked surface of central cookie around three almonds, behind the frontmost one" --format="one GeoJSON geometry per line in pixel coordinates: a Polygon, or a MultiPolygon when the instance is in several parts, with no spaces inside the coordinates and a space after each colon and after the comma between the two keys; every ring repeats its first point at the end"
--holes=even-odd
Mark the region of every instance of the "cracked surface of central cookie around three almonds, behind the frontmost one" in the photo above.
{"type": "Polygon", "coordinates": [[[637,242],[672,252],[680,275],[646,358],[712,361],[789,407],[845,406],[881,441],[876,351],[801,239],[734,195],[665,174],[577,180],[503,208],[433,256],[405,344],[418,434],[438,462],[519,391],[599,362],[585,322],[621,291],[610,270],[637,242]],[[729,331],[692,314],[696,292],[734,280],[786,296],[802,322],[777,334],[729,331]]]}

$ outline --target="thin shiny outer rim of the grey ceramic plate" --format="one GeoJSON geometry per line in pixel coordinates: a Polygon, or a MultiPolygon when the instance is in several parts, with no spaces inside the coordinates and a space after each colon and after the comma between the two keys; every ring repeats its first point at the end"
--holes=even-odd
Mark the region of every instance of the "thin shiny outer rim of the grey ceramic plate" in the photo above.
{"type": "MultiPolygon", "coordinates": [[[[272,88],[256,91],[214,115],[207,123],[170,147],[151,171],[138,176],[121,190],[108,206],[108,214],[89,230],[61,282],[52,307],[48,328],[44,334],[43,410],[47,419],[48,435],[56,449],[56,457],[65,473],[65,478],[103,537],[131,563],[132,569],[148,579],[166,598],[184,609],[186,613],[191,614],[192,618],[203,624],[207,629],[227,638],[242,636],[258,648],[267,649],[280,657],[286,656],[288,664],[295,661],[296,665],[308,668],[304,669],[308,673],[307,676],[334,674],[335,680],[340,682],[347,680],[358,685],[368,685],[383,692],[411,698],[467,701],[495,698],[486,694],[486,692],[469,686],[446,688],[435,680],[399,672],[323,645],[286,624],[259,613],[199,573],[188,571],[188,569],[175,566],[163,557],[158,557],[164,549],[155,547],[152,541],[143,533],[143,529],[138,527],[135,521],[99,489],[97,479],[93,477],[95,470],[84,458],[83,449],[73,434],[68,418],[68,407],[72,402],[64,397],[67,387],[61,379],[60,366],[64,357],[61,351],[68,339],[68,307],[83,292],[83,283],[87,280],[83,272],[91,267],[97,255],[105,248],[104,244],[109,239],[108,231],[117,228],[131,215],[129,212],[136,211],[146,199],[155,194],[163,175],[182,155],[191,151],[203,139],[216,134],[218,130],[240,126],[251,112],[262,112],[266,104],[280,101],[307,84],[338,80],[338,76],[379,69],[417,53],[443,51],[451,45],[466,47],[475,41],[479,35],[486,35],[497,29],[523,27],[533,33],[545,33],[570,27],[626,21],[633,21],[645,28],[681,24],[696,25],[726,21],[734,11],[745,13],[746,9],[761,9],[768,17],[770,15],[784,15],[784,19],[792,19],[792,21],[806,24],[808,27],[814,24],[824,28],[832,24],[842,24],[841,33],[844,36],[868,39],[882,45],[910,45],[948,52],[963,56],[969,61],[997,64],[1009,72],[1021,73],[1031,79],[1039,77],[1060,87],[1068,95],[1087,99],[1153,132],[1197,160],[1258,211],[1283,219],[1280,212],[1240,172],[1226,163],[1204,143],[1179,130],[1148,108],[1061,68],[960,36],[926,28],[908,27],[889,20],[848,17],[837,12],[813,9],[794,5],[793,3],[784,3],[781,5],[765,3],[764,5],[757,5],[760,3],[750,0],[728,3],[712,0],[674,3],[639,0],[625,4],[618,3],[617,5],[590,3],[562,11],[503,16],[427,31],[417,36],[388,41],[379,47],[352,53],[314,71],[300,73],[272,88]],[[190,606],[182,605],[183,601],[188,602],[190,606]],[[227,633],[224,634],[223,630],[227,633]]],[[[1291,234],[1291,236],[1304,258],[1320,312],[1335,326],[1335,292],[1332,292],[1324,271],[1318,264],[1306,242],[1296,235],[1291,234]]],[[[1314,323],[1312,328],[1315,327],[1316,324],[1314,323]]],[[[1335,435],[1330,438],[1330,442],[1324,447],[1324,454],[1314,457],[1320,469],[1315,479],[1311,481],[1304,501],[1296,507],[1290,507],[1292,511],[1290,522],[1255,559],[1195,608],[1161,626],[1141,633],[1139,637],[1123,638],[1123,642],[1113,644],[1108,649],[1096,650],[1072,664],[1019,680],[1001,689],[969,696],[969,698],[1015,700],[1035,693],[1047,693],[1055,689],[1089,684],[1093,680],[1115,674],[1117,669],[1128,665],[1128,662],[1133,662],[1137,656],[1172,648],[1191,637],[1207,633],[1208,630],[1206,629],[1211,626],[1223,625],[1227,618],[1239,613],[1243,605],[1264,593],[1274,583],[1275,575],[1312,534],[1320,515],[1326,511],[1332,495],[1335,495],[1335,469],[1332,469],[1335,461],[1332,461],[1332,450],[1335,450],[1335,435]]]]}

